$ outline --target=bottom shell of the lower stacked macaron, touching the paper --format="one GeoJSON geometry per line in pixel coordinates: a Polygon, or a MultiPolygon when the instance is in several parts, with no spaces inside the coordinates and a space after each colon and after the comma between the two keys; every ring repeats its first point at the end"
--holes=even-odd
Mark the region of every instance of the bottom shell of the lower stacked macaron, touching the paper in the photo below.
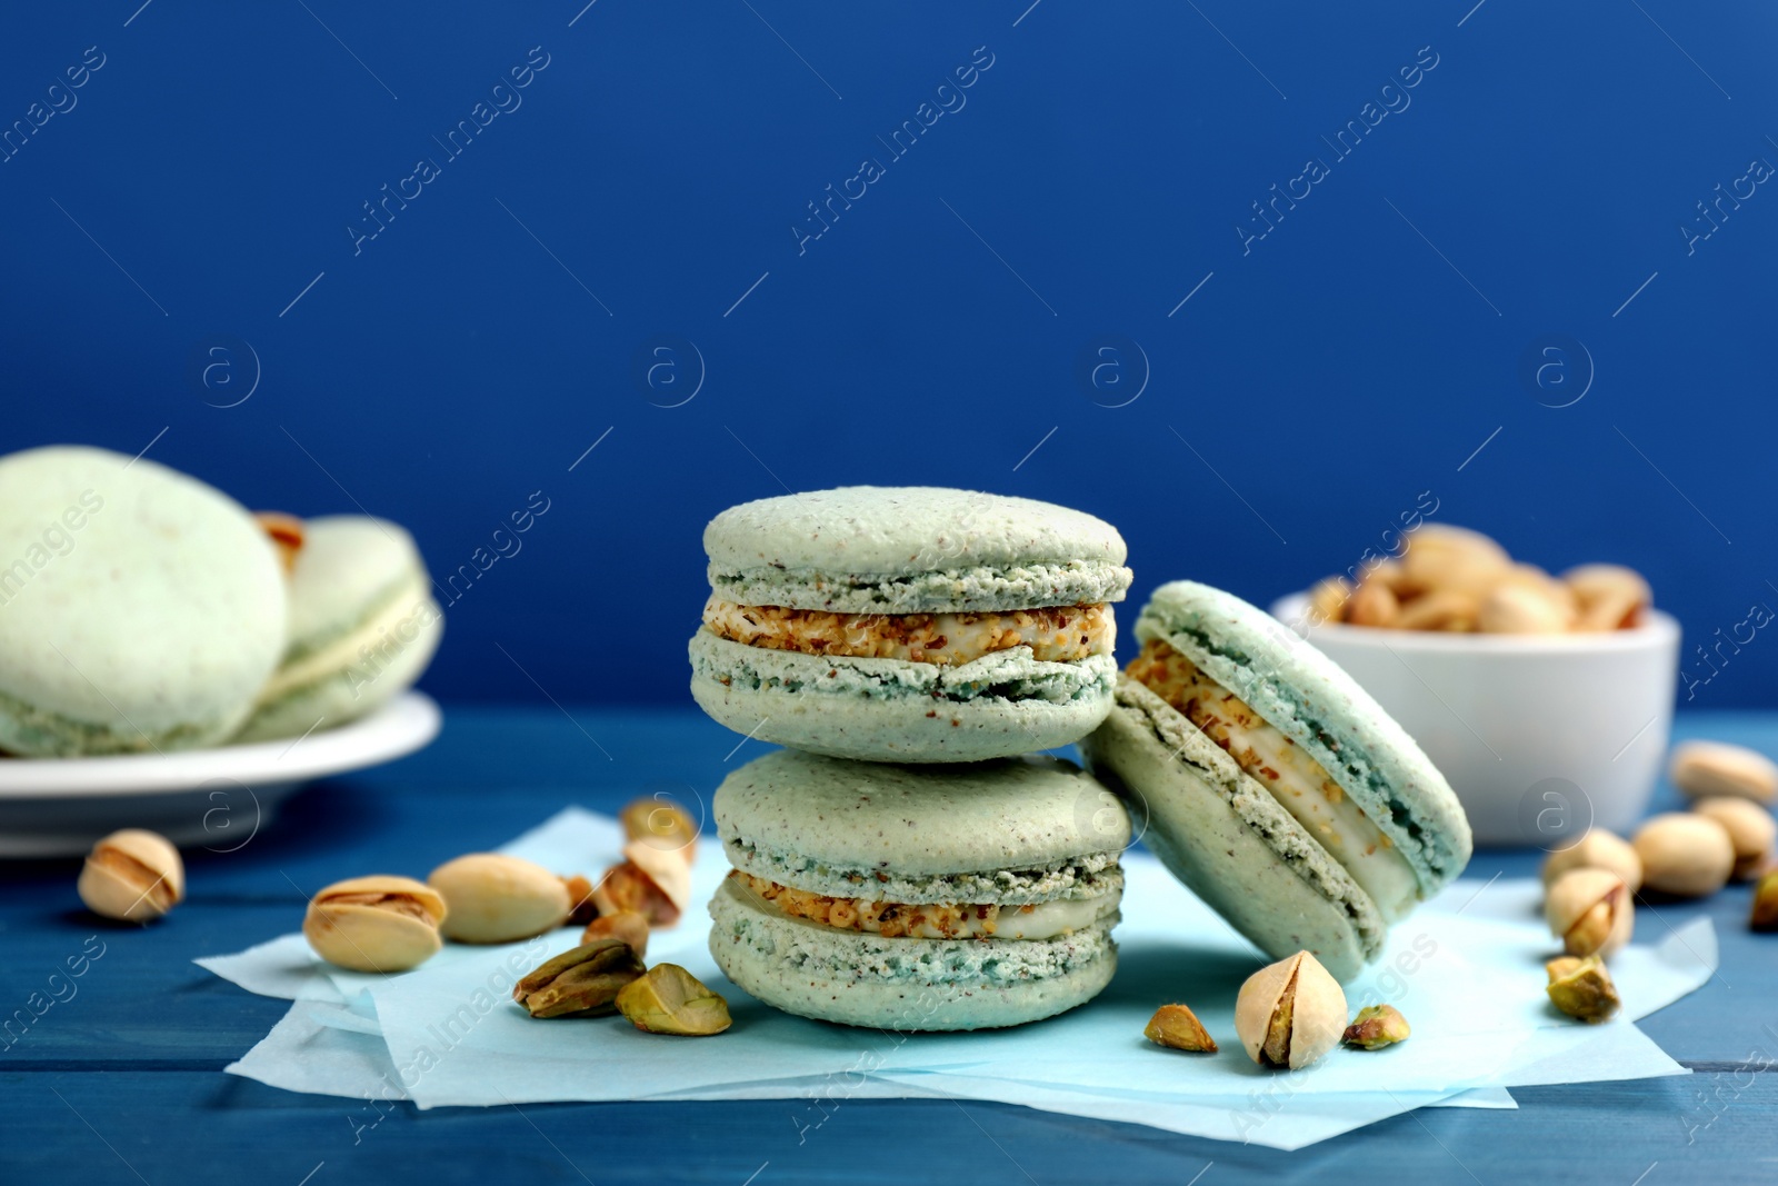
{"type": "Polygon", "coordinates": [[[745,992],[800,1017],[889,1031],[989,1030],[1054,1017],[1117,971],[1109,926],[1067,939],[880,939],[768,914],[724,882],[709,953],[745,992]]]}

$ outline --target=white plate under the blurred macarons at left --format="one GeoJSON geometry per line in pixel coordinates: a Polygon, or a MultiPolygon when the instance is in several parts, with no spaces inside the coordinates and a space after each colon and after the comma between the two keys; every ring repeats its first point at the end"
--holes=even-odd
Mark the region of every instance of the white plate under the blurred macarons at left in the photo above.
{"type": "Polygon", "coordinates": [[[407,692],[363,720],[306,738],[116,757],[0,757],[0,857],[84,853],[121,827],[233,852],[306,782],[412,754],[439,706],[407,692]]]}

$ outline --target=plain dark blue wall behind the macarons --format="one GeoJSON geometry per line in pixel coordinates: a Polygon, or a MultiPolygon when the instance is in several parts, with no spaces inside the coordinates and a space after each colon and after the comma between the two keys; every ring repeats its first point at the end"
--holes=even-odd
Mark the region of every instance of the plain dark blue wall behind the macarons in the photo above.
{"type": "MultiPolygon", "coordinates": [[[[1648,573],[1693,676],[1778,606],[1778,192],[1691,254],[1678,229],[1778,164],[1769,7],[137,2],[5,16],[0,124],[87,46],[105,66],[0,164],[0,445],[167,429],[153,459],[398,519],[439,578],[542,491],[448,612],[444,697],[683,701],[699,532],[786,485],[1077,505],[1122,528],[1138,603],[1303,587],[1431,491],[1529,560],[1648,573]],[[532,46],[523,105],[443,160],[532,46]],[[978,46],[965,105],[887,160],[978,46]],[[1334,160],[1422,46],[1412,103],[1334,160]],[[1310,155],[1332,174],[1243,254],[1310,155]],[[354,256],[420,156],[441,176],[354,256]],[[862,156],[885,176],[798,254],[862,156]],[[187,373],[219,334],[260,363],[238,407],[212,404],[240,349],[233,388],[187,373]],[[1520,381],[1542,334],[1591,356],[1577,404],[1520,381]],[[638,379],[661,336],[704,361],[679,407],[683,347],[679,386],[638,379]],[[1104,336],[1149,361],[1125,407],[1127,347],[1111,395],[1077,377],[1104,336]]],[[[1778,644],[1693,692],[1778,701],[1778,644]]]]}

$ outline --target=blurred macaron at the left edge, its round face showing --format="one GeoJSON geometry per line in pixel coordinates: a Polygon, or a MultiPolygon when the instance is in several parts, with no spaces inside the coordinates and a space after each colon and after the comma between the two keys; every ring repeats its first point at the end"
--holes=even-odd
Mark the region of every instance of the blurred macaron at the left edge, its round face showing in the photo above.
{"type": "Polygon", "coordinates": [[[0,749],[222,741],[284,645],[284,578],[220,491],[100,448],[0,459],[0,749]]]}

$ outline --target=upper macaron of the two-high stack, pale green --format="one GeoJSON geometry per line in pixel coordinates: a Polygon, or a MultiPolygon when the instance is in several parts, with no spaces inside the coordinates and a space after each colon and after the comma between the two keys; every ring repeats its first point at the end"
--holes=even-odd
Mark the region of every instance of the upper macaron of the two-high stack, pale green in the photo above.
{"type": "Polygon", "coordinates": [[[933,487],[766,498],[704,528],[692,695],[832,757],[980,761],[1111,709],[1124,539],[1079,510],[933,487]]]}

